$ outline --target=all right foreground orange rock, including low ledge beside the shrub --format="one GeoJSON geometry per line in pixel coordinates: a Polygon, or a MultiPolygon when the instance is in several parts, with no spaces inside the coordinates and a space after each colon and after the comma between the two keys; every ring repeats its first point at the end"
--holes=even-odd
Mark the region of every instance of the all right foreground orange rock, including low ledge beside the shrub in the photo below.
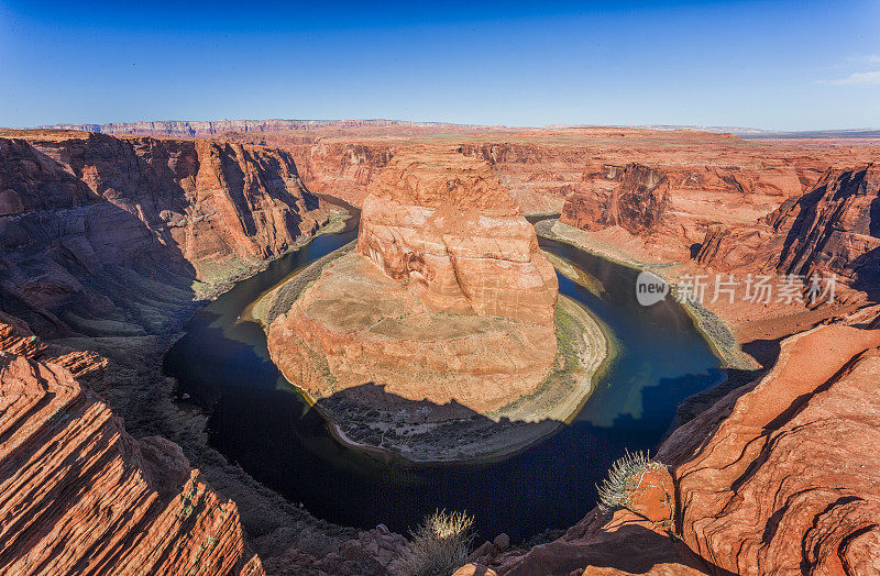
{"type": "Polygon", "coordinates": [[[498,574],[875,574],[880,571],[880,308],[782,343],[759,381],[679,428],[663,481],[628,509],[496,556],[498,574]],[[662,511],[672,502],[675,522],[662,511]],[[673,536],[674,534],[674,536],[673,536]]]}

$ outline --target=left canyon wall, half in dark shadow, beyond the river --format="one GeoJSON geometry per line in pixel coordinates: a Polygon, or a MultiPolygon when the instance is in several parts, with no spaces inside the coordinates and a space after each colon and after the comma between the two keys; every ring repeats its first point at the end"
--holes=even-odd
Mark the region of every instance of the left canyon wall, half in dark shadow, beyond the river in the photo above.
{"type": "MultiPolygon", "coordinates": [[[[0,139],[0,308],[46,335],[143,317],[120,275],[144,291],[172,286],[148,308],[179,306],[292,248],[328,215],[286,152],[100,134],[0,139]]],[[[151,322],[158,314],[135,323],[151,322]]]]}

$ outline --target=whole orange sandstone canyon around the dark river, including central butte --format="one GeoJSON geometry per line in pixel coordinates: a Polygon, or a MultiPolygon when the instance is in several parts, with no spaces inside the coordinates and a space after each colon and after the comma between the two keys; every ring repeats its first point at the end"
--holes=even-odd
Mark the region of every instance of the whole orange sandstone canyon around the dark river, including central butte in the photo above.
{"type": "Polygon", "coordinates": [[[315,398],[339,391],[321,370],[340,388],[375,381],[398,397],[343,395],[328,407],[340,420],[352,401],[415,414],[454,400],[433,418],[470,418],[537,389],[557,363],[564,299],[524,213],[560,213],[554,230],[572,243],[670,280],[840,280],[834,304],[708,304],[762,368],[732,369],[685,402],[656,455],[669,476],[640,478],[635,510],[596,509],[536,546],[481,546],[472,573],[880,571],[876,141],[77,128],[91,132],[0,133],[4,572],[393,573],[403,536],[334,527],[260,486],[208,445],[206,416],[161,372],[199,302],[332,220],[318,192],[362,208],[356,245],[264,304],[273,358],[315,398]],[[459,379],[437,376],[452,370],[459,379]],[[485,374],[498,394],[474,384],[485,374]],[[422,388],[402,386],[411,381],[422,388]]]}

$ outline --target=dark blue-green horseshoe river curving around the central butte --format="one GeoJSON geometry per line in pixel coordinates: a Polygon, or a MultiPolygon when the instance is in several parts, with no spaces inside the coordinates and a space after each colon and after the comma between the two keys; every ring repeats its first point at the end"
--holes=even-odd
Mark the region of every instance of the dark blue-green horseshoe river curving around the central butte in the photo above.
{"type": "Polygon", "coordinates": [[[238,284],[186,324],[165,357],[178,391],[209,411],[211,445],[319,518],[406,532],[437,508],[466,509],[484,538],[506,532],[514,542],[569,527],[594,506],[595,484],[625,448],[654,450],[676,405],[725,378],[676,303],[636,302],[635,270],[541,239],[597,280],[598,293],[563,276],[559,287],[617,340],[616,362],[574,421],[492,464],[414,465],[348,448],[272,364],[260,325],[238,318],[264,290],[355,236],[356,229],[318,236],[238,284]]]}

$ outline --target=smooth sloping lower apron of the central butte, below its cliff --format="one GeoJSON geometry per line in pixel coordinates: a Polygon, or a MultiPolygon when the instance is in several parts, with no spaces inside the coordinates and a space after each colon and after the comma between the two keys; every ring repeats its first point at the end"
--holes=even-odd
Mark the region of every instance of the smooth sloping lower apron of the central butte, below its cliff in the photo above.
{"type": "Polygon", "coordinates": [[[438,419],[488,412],[535,391],[557,342],[552,323],[427,310],[417,293],[350,254],[272,323],[268,348],[287,379],[316,399],[341,395],[438,419]]]}

